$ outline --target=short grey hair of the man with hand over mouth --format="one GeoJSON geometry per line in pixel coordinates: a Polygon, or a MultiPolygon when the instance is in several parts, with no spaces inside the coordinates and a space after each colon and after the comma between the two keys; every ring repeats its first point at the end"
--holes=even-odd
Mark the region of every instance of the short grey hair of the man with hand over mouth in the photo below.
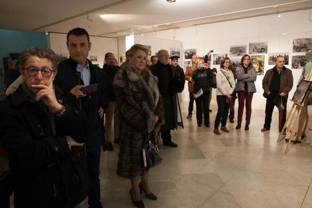
{"type": "Polygon", "coordinates": [[[30,47],[19,55],[18,59],[20,61],[21,67],[25,68],[25,62],[29,56],[37,56],[39,58],[47,58],[52,62],[52,70],[57,70],[57,56],[49,48],[42,47],[30,47]]]}

